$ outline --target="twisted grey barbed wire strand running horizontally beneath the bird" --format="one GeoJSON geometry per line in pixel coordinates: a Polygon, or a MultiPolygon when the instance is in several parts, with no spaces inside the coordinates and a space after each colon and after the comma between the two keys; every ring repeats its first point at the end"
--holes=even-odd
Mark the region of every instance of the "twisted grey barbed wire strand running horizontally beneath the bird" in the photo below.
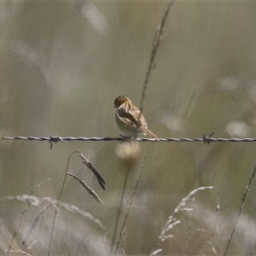
{"type": "MultiPolygon", "coordinates": [[[[118,141],[118,142],[125,142],[124,137],[59,137],[59,136],[50,136],[50,137],[21,137],[21,136],[14,136],[14,137],[0,137],[1,140],[26,140],[26,141],[39,141],[44,142],[48,141],[50,143],[50,148],[52,148],[52,143],[64,143],[65,141],[73,142],[73,141],[80,141],[80,142],[99,142],[99,141],[105,141],[105,142],[111,142],[111,141],[118,141]]],[[[151,142],[151,143],[170,143],[170,142],[177,142],[177,143],[252,143],[256,142],[256,138],[224,138],[219,137],[215,138],[212,137],[212,134],[210,136],[203,136],[203,137],[163,137],[160,138],[159,141],[156,141],[152,138],[147,137],[137,137],[133,139],[137,142],[151,142]]]]}

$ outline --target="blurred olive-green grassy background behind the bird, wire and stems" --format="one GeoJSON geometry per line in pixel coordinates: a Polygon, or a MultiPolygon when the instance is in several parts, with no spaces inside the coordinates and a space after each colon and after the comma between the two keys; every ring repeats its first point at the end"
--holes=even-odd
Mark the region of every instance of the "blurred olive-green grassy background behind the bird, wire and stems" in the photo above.
{"type": "MultiPolygon", "coordinates": [[[[139,105],[155,28],[165,10],[163,2],[0,3],[0,136],[119,137],[113,100],[125,95],[139,105]]],[[[213,137],[255,137],[255,12],[256,3],[248,2],[173,3],[143,108],[158,137],[212,132],[213,137]]],[[[68,171],[95,189],[104,205],[72,177],[67,177],[61,201],[89,212],[106,229],[61,209],[51,254],[108,255],[125,172],[129,177],[115,242],[148,149],[126,224],[125,253],[150,254],[168,217],[199,186],[214,189],[199,191],[195,201],[188,201],[193,211],[177,212],[181,223],[160,244],[160,255],[223,253],[256,165],[255,143],[138,143],[132,160],[117,154],[123,147],[119,142],[74,141],[50,150],[47,142],[2,141],[0,197],[28,195],[50,177],[35,195],[55,199],[69,155],[82,150],[106,180],[107,190],[102,191],[77,154],[68,171]]],[[[255,192],[253,181],[230,255],[255,253],[255,192]]],[[[44,205],[26,211],[13,250],[47,254],[53,207],[44,212],[26,245],[20,243],[44,205]]],[[[1,254],[24,206],[0,202],[1,254]]]]}

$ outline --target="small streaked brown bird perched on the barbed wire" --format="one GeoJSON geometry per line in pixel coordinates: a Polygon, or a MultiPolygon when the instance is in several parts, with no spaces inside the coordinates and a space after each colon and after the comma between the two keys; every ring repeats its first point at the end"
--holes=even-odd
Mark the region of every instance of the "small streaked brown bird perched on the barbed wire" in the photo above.
{"type": "Polygon", "coordinates": [[[113,104],[113,108],[116,108],[115,120],[122,135],[136,138],[139,133],[144,133],[148,137],[159,141],[159,138],[152,131],[148,130],[143,114],[129,98],[118,96],[113,104]]]}

